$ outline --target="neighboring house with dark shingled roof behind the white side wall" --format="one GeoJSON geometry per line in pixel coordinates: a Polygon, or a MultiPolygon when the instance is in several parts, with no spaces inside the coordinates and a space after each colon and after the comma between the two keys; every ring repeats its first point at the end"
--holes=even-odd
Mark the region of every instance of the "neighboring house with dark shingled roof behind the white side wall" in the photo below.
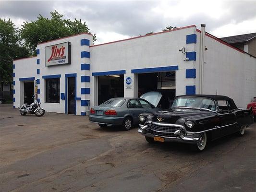
{"type": "Polygon", "coordinates": [[[256,57],[256,33],[227,36],[220,39],[256,57]]]}

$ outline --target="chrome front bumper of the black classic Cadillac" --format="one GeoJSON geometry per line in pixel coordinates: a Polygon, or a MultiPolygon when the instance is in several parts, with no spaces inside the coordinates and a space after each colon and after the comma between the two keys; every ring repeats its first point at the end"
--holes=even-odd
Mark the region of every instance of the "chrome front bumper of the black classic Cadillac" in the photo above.
{"type": "MultiPolygon", "coordinates": [[[[146,137],[158,137],[158,135],[154,135],[148,132],[148,126],[143,125],[138,129],[138,132],[146,137]]],[[[186,133],[183,134],[181,130],[177,130],[174,132],[175,137],[165,137],[165,136],[159,136],[164,138],[165,142],[182,142],[182,143],[197,143],[199,141],[199,138],[197,137],[187,137],[186,133]]]]}

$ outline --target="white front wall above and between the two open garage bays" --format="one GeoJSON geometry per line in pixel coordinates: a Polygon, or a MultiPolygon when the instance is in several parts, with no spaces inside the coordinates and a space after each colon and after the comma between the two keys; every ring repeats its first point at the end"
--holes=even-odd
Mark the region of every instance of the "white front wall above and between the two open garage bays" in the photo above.
{"type": "MultiPolygon", "coordinates": [[[[178,65],[176,95],[185,94],[185,85],[195,85],[195,79],[185,78],[185,69],[193,69],[195,61],[183,61],[185,55],[179,49],[184,46],[188,52],[195,50],[195,44],[186,44],[186,36],[195,34],[195,30],[193,26],[157,35],[92,46],[90,48],[91,71],[126,70],[124,76],[131,76],[133,80],[136,80],[136,74],[131,73],[132,69],[178,65]]],[[[136,87],[133,91],[124,89],[124,96],[136,96],[136,91],[136,87]]],[[[96,101],[96,98],[97,96],[91,95],[90,100],[96,101]]]]}

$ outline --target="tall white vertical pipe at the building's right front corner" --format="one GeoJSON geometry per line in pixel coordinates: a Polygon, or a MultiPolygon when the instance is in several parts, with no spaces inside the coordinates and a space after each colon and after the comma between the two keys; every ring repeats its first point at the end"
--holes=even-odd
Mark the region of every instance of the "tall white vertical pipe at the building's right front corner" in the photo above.
{"type": "Polygon", "coordinates": [[[205,63],[205,27],[201,24],[200,55],[199,55],[199,94],[204,94],[204,63],[205,63]]]}

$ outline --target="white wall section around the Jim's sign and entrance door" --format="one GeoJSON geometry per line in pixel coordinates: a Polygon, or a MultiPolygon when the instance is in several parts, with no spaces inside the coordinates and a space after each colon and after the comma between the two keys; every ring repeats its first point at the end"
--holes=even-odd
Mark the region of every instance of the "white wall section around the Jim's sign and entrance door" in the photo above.
{"type": "MultiPolygon", "coordinates": [[[[81,83],[81,76],[87,75],[89,76],[91,73],[87,70],[81,71],[81,63],[90,64],[89,58],[81,58],[81,51],[90,51],[89,46],[81,46],[81,39],[89,39],[90,45],[92,45],[92,36],[88,34],[80,34],[77,36],[70,36],[67,38],[62,38],[58,40],[49,41],[46,43],[39,44],[37,49],[39,49],[40,53],[37,57],[23,59],[23,60],[15,60],[13,63],[15,64],[15,105],[16,107],[20,106],[20,97],[17,95],[20,93],[20,83],[19,78],[24,77],[35,77],[35,79],[40,79],[40,84],[38,84],[38,88],[40,89],[40,94],[38,94],[38,98],[40,98],[40,102],[42,103],[42,107],[45,108],[49,112],[58,112],[65,113],[65,100],[61,100],[60,103],[45,103],[45,80],[42,78],[43,75],[56,75],[61,74],[60,78],[60,93],[65,93],[65,74],[68,73],[77,73],[76,83],[76,97],[81,97],[81,99],[89,99],[88,95],[81,95],[81,88],[89,87],[90,83],[81,83]],[[45,47],[64,43],[71,42],[71,64],[64,64],[58,66],[45,66],[45,47]],[[40,60],[40,64],[37,64],[37,59],[40,60]],[[37,74],[37,69],[40,69],[40,74],[37,74]]],[[[23,93],[21,93],[22,95],[23,93]]],[[[67,96],[65,96],[67,98],[67,96]]],[[[86,107],[81,107],[80,100],[76,101],[76,114],[80,115],[81,111],[85,112],[87,110],[86,107]]]]}

